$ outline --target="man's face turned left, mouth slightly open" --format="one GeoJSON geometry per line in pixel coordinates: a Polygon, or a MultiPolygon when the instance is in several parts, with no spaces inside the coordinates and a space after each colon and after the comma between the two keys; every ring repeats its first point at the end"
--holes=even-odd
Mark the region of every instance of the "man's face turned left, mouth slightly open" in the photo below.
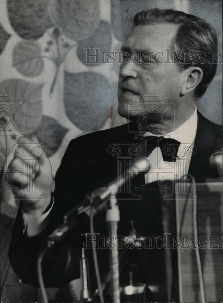
{"type": "MultiPolygon", "coordinates": [[[[165,63],[172,61],[173,50],[170,49],[168,59],[166,49],[171,48],[177,28],[178,25],[170,23],[138,25],[123,44],[122,51],[134,52],[136,56],[134,58],[130,53],[128,58],[122,60],[118,82],[118,113],[121,116],[127,117],[128,103],[131,99],[139,99],[142,102],[145,96],[159,96],[161,102],[170,99],[170,102],[176,105],[177,102],[179,103],[180,89],[184,81],[183,73],[180,72],[176,63],[165,63]],[[163,52],[163,54],[157,52],[163,52]],[[148,54],[144,59],[149,63],[145,63],[143,59],[139,63],[137,54],[140,53],[148,54]],[[154,58],[155,54],[157,54],[156,58],[154,58]],[[158,63],[162,60],[163,63],[158,63]]],[[[135,111],[128,112],[130,119],[136,115],[135,111]]],[[[165,118],[169,119],[168,116],[165,118]]],[[[151,124],[155,125],[159,120],[160,116],[152,112],[149,118],[151,124]]]]}

